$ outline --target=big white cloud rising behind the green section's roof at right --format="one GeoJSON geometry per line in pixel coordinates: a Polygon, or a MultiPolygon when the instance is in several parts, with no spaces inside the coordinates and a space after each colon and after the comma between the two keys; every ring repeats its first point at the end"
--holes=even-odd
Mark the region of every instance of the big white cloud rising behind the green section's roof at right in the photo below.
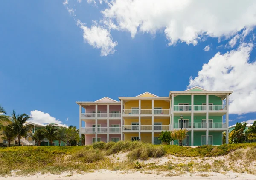
{"type": "Polygon", "coordinates": [[[204,64],[198,76],[190,78],[188,88],[201,86],[210,91],[233,90],[230,114],[256,112],[256,61],[248,62],[252,43],[241,43],[236,50],[218,52],[204,64]]]}

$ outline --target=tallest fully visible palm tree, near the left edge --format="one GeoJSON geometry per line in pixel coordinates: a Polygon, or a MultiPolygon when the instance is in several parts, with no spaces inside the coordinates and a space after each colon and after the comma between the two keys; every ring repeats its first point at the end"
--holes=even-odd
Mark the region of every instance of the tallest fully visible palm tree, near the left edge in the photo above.
{"type": "Polygon", "coordinates": [[[20,145],[20,139],[22,136],[26,135],[29,131],[31,131],[32,124],[26,124],[26,121],[29,120],[31,117],[28,114],[20,114],[16,115],[15,111],[13,110],[11,122],[13,130],[16,132],[18,140],[19,140],[19,146],[20,145]]]}

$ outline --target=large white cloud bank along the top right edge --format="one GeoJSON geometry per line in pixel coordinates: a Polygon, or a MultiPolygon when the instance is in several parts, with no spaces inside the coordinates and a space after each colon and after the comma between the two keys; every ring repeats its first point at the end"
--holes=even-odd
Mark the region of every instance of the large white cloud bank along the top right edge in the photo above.
{"type": "Polygon", "coordinates": [[[102,11],[122,31],[165,33],[169,45],[196,45],[204,37],[231,37],[256,24],[256,1],[113,0],[102,11]]]}

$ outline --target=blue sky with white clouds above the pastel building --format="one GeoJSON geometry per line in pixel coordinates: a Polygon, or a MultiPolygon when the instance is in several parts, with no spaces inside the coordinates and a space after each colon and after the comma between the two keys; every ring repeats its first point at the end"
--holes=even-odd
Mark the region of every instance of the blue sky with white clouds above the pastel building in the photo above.
{"type": "MultiPolygon", "coordinates": [[[[119,0],[112,4],[100,2],[2,2],[0,104],[8,114],[14,109],[31,114],[40,123],[53,120],[79,126],[76,101],[95,101],[105,96],[118,100],[118,96],[136,96],[145,91],[168,96],[169,91],[197,85],[236,92],[230,97],[230,125],[256,119],[256,18],[247,8],[256,7],[253,1],[234,7],[228,15],[221,8],[212,9],[220,15],[204,14],[216,16],[211,26],[211,20],[204,17],[188,23],[182,19],[187,17],[186,7],[176,4],[176,13],[166,1],[156,6],[175,15],[155,15],[157,10],[151,6],[139,12],[140,8],[133,9],[140,3],[126,4],[128,13],[122,14],[126,11],[119,0]],[[236,8],[241,8],[240,14],[236,8]],[[177,14],[180,16],[175,19],[177,14]],[[236,14],[247,21],[237,20],[236,14]],[[129,20],[140,25],[131,25],[129,20]],[[104,36],[104,32],[109,34],[104,36]],[[204,51],[206,46],[209,51],[204,51]],[[102,49],[109,51],[102,55],[102,49]],[[209,69],[202,68],[204,64],[209,69]]],[[[227,5],[223,6],[225,9],[227,5]]],[[[190,7],[201,10],[214,5],[200,7],[192,3],[190,7]]]]}

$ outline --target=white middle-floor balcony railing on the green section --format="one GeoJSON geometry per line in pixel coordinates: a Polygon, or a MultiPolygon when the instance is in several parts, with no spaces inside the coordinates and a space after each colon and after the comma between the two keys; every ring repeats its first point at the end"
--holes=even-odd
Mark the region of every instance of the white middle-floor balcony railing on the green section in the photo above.
{"type": "MultiPolygon", "coordinates": [[[[191,129],[192,123],[173,123],[174,129],[191,129]]],[[[226,129],[227,125],[226,123],[208,123],[209,129],[226,129]]],[[[194,123],[193,128],[194,129],[206,129],[207,124],[206,123],[194,123]]]]}

